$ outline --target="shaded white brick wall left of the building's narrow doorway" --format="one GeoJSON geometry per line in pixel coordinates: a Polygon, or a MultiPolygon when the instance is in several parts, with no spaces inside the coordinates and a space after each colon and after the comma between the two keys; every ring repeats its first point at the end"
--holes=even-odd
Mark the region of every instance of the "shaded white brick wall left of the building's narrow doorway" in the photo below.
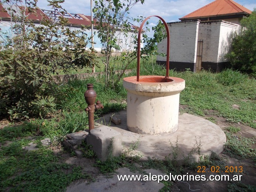
{"type": "MultiPolygon", "coordinates": [[[[170,61],[196,62],[199,21],[168,23],[170,31],[170,61]]],[[[157,45],[158,52],[166,53],[167,39],[157,45]]],[[[157,61],[166,57],[157,56],[157,61]]]]}

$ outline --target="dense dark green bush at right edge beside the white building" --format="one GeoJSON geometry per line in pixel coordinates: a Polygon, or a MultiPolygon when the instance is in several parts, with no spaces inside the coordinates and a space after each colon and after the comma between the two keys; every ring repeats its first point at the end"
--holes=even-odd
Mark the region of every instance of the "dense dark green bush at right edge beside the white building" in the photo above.
{"type": "Polygon", "coordinates": [[[233,69],[256,76],[256,9],[241,20],[241,31],[232,39],[232,51],[227,57],[233,69]]]}

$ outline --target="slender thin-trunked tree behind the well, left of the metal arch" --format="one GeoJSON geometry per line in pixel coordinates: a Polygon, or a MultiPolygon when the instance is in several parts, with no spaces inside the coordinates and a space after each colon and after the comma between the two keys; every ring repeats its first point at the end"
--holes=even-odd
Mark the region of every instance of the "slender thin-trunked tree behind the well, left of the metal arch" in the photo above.
{"type": "MultiPolygon", "coordinates": [[[[97,20],[96,27],[98,37],[102,44],[101,53],[105,55],[103,64],[105,65],[105,86],[115,88],[122,78],[124,71],[136,59],[137,48],[137,28],[131,25],[131,21],[141,23],[143,17],[130,18],[129,10],[137,3],[144,3],[144,0],[97,0],[93,8],[94,16],[97,20]],[[133,27],[133,29],[132,29],[133,27]],[[132,33],[131,33],[132,32],[132,33]],[[126,51],[122,51],[122,47],[118,42],[118,37],[122,34],[123,43],[126,51]],[[130,35],[130,36],[129,36],[130,35]],[[116,54],[112,58],[112,52],[116,54]]],[[[147,22],[148,24],[148,22],[147,22]]],[[[150,29],[145,28],[143,34],[143,42],[147,45],[141,50],[141,55],[150,55],[157,48],[156,43],[163,40],[165,34],[162,33],[164,26],[161,22],[152,30],[155,31],[154,38],[148,38],[146,32],[150,29]]]]}

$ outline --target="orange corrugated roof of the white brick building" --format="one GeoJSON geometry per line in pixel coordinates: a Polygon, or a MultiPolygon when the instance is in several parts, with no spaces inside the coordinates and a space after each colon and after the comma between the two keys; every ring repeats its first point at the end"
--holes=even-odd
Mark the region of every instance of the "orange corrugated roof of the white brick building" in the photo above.
{"type": "Polygon", "coordinates": [[[180,20],[209,16],[223,16],[239,13],[251,14],[252,11],[232,0],[216,0],[202,8],[199,8],[198,10],[193,11],[190,14],[187,14],[186,16],[180,18],[180,20]]]}

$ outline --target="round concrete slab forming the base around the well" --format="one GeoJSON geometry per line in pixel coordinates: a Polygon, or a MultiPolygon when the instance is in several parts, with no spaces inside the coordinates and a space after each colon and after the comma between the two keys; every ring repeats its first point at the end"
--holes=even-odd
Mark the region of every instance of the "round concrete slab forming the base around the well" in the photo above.
{"type": "MultiPolygon", "coordinates": [[[[225,133],[219,126],[211,121],[201,117],[184,113],[179,116],[178,130],[174,133],[164,136],[141,135],[127,131],[126,111],[119,112],[118,118],[122,120],[119,126],[111,127],[122,134],[122,145],[124,150],[130,147],[130,144],[138,142],[138,148],[135,151],[142,155],[141,160],[157,158],[164,160],[165,157],[174,158],[174,147],[178,146],[177,161],[184,163],[185,157],[191,156],[192,160],[198,160],[197,151],[191,154],[191,151],[200,147],[200,155],[210,156],[212,152],[220,154],[226,142],[225,133]],[[171,147],[173,145],[173,147],[171,147]]],[[[111,115],[111,114],[110,114],[111,115]]],[[[106,116],[109,116],[107,114],[106,116]]]]}

